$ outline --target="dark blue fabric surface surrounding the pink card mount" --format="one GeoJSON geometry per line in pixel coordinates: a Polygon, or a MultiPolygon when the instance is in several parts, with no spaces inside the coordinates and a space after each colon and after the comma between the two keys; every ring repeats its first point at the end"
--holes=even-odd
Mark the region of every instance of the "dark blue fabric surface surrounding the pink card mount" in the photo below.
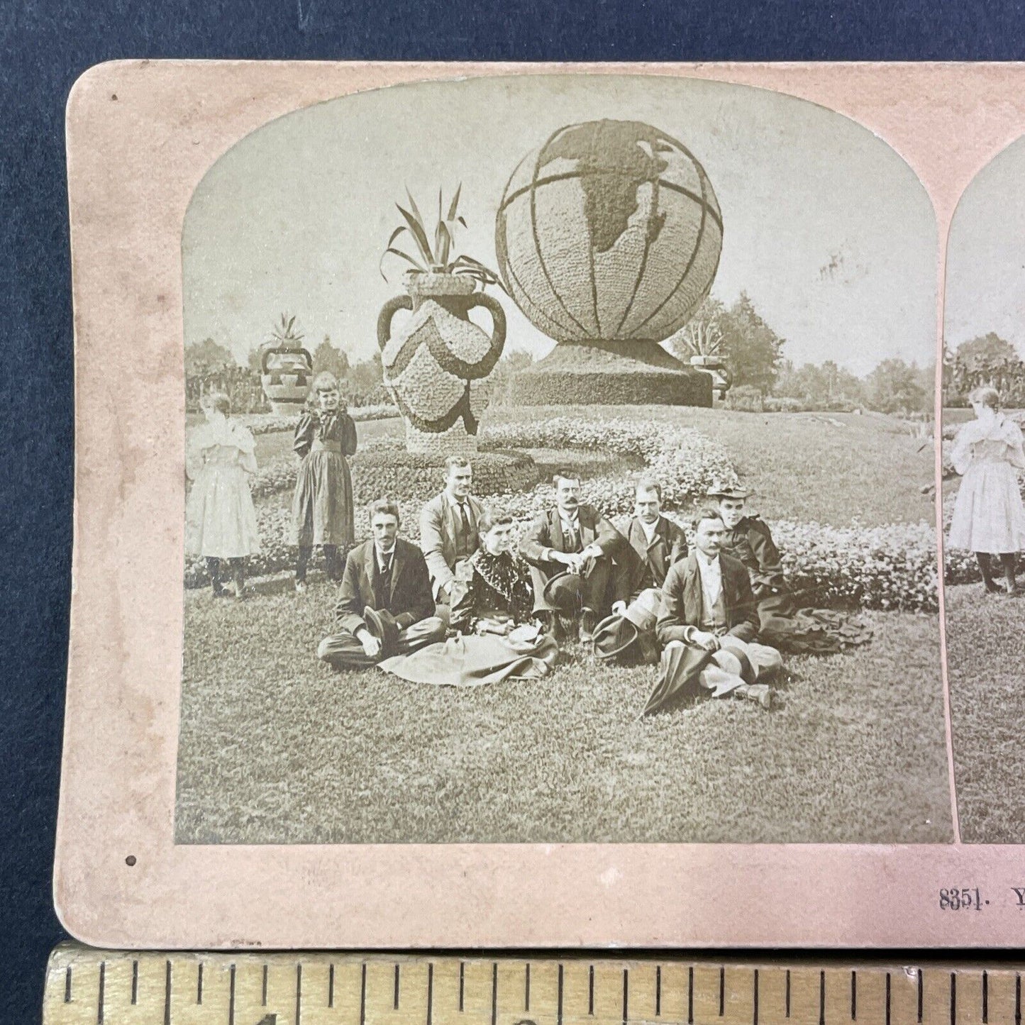
{"type": "Polygon", "coordinates": [[[67,655],[72,310],[64,109],[114,57],[1022,59],[1025,4],[960,0],[0,3],[0,1018],[39,1020],[67,655]]]}

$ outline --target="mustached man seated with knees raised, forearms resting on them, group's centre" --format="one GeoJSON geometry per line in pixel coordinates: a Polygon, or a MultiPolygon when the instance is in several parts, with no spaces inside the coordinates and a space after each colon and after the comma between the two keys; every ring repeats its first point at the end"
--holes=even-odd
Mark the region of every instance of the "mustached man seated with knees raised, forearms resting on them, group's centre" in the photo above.
{"type": "MultiPolygon", "coordinates": [[[[579,616],[580,640],[589,643],[609,605],[613,558],[623,535],[592,505],[580,502],[580,481],[556,477],[556,507],[541,512],[527,529],[520,552],[530,563],[534,609],[561,625],[579,616]]],[[[565,629],[565,627],[564,627],[565,629]]]]}

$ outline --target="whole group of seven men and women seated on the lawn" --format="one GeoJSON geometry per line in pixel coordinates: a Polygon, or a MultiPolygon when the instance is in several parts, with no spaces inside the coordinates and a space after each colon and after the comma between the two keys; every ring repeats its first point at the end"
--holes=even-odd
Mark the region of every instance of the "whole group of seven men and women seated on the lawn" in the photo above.
{"type": "Polygon", "coordinates": [[[578,479],[557,477],[554,507],[519,544],[512,518],[471,487],[469,460],[450,457],[444,490],[421,510],[419,546],[399,536],[395,502],[372,503],[373,536],[348,552],[320,658],[470,686],[543,675],[559,645],[578,639],[602,659],[660,664],[646,711],[702,692],[770,705],[765,681],[781,658],[758,643],[758,608],[785,583],[746,492],[711,489],[689,550],[652,478],[637,483],[621,533],[580,501],[578,479]]]}

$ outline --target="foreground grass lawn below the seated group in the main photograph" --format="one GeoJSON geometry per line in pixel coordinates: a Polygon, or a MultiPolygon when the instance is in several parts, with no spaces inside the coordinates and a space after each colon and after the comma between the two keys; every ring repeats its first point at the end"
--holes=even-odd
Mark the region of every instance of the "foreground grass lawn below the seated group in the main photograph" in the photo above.
{"type": "Polygon", "coordinates": [[[789,659],[772,711],[638,722],[655,669],[578,646],[482,689],[332,672],[332,588],[286,586],[186,594],[178,843],[950,839],[936,616],[869,614],[869,645],[789,659]]]}

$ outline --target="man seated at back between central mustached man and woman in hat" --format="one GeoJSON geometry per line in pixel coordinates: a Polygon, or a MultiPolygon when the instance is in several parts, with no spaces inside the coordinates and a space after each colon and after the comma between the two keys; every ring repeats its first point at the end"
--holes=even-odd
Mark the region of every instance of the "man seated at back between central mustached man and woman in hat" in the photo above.
{"type": "Polygon", "coordinates": [[[662,486],[652,477],[637,484],[633,519],[626,527],[626,542],[616,583],[612,611],[622,614],[643,591],[661,589],[669,567],[687,555],[683,527],[661,512],[662,486]]]}

